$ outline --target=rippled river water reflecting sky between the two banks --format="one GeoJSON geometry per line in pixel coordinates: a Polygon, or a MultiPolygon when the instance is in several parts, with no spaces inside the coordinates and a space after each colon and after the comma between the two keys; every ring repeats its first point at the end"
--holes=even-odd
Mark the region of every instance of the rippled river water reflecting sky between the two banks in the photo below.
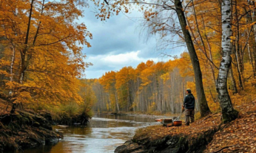
{"type": "Polygon", "coordinates": [[[101,153],[114,152],[131,139],[138,128],[155,125],[151,117],[128,115],[96,115],[88,126],[54,126],[64,139],[54,145],[26,149],[25,153],[101,153]]]}

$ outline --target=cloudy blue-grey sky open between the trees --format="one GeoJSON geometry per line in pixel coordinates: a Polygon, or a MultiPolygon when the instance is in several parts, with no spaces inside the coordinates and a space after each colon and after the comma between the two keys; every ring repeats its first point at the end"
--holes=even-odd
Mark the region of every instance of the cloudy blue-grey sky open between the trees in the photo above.
{"type": "Polygon", "coordinates": [[[181,48],[157,51],[154,37],[145,41],[140,35],[142,31],[140,12],[121,13],[106,22],[96,19],[93,12],[95,12],[93,7],[86,9],[85,17],[81,19],[93,34],[93,39],[88,40],[92,48],[83,49],[83,53],[87,55],[86,62],[93,64],[92,67],[87,68],[86,78],[100,78],[105,72],[117,71],[126,66],[137,67],[140,62],[147,60],[155,62],[168,60],[168,57],[163,57],[161,52],[179,55],[184,51],[181,48]]]}

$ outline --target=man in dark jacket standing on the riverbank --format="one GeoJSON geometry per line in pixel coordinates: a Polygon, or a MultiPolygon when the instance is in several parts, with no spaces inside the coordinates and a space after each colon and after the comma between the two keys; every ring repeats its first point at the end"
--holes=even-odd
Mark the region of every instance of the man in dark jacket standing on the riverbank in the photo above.
{"type": "Polygon", "coordinates": [[[184,99],[184,104],[182,105],[183,109],[185,107],[185,115],[186,115],[186,125],[189,125],[189,117],[191,119],[191,123],[193,123],[194,115],[195,115],[195,97],[191,93],[190,89],[186,91],[187,96],[184,99]]]}

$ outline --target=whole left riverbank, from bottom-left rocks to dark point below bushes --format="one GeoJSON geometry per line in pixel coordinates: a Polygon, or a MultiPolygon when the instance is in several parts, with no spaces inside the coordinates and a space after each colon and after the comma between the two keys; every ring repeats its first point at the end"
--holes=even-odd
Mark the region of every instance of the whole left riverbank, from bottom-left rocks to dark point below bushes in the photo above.
{"type": "Polygon", "coordinates": [[[63,134],[53,130],[52,125],[87,125],[90,116],[67,112],[53,115],[46,110],[16,109],[11,113],[11,106],[0,98],[0,152],[22,151],[44,144],[58,143],[63,134]]]}

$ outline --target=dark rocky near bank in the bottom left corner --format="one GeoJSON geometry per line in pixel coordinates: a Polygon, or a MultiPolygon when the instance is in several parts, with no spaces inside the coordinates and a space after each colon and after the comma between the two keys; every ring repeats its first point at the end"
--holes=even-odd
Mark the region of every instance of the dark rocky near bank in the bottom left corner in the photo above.
{"type": "Polygon", "coordinates": [[[54,131],[51,115],[16,110],[0,114],[0,152],[23,150],[41,144],[54,144],[62,133],[54,131]],[[45,117],[44,117],[45,116],[45,117]]]}

